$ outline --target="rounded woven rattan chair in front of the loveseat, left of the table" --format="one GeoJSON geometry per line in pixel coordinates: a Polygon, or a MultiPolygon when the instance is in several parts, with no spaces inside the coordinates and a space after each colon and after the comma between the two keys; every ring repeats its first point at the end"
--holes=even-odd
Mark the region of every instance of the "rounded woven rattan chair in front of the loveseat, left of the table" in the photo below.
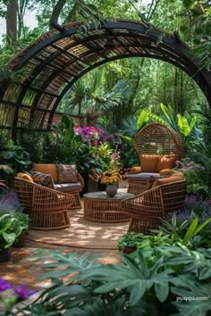
{"type": "Polygon", "coordinates": [[[20,178],[15,178],[14,187],[22,206],[30,214],[31,229],[70,227],[67,210],[72,208],[73,195],[20,178]]]}

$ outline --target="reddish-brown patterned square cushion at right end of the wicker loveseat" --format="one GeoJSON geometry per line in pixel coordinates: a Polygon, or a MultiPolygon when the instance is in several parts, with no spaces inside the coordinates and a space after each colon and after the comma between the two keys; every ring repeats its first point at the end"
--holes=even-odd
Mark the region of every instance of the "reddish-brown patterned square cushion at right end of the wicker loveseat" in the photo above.
{"type": "Polygon", "coordinates": [[[78,182],[77,170],[72,164],[56,164],[58,183],[78,182]]]}

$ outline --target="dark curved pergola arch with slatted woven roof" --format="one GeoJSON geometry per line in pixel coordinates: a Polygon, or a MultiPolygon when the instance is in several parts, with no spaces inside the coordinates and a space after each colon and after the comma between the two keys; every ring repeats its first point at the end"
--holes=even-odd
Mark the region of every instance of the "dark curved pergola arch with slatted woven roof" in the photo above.
{"type": "Polygon", "coordinates": [[[141,21],[84,22],[53,30],[17,54],[8,69],[14,79],[0,82],[0,129],[47,129],[72,84],[98,66],[121,58],[148,57],[185,71],[211,104],[211,72],[201,70],[179,37],[141,21]],[[108,43],[109,42],[109,43],[108,43]]]}

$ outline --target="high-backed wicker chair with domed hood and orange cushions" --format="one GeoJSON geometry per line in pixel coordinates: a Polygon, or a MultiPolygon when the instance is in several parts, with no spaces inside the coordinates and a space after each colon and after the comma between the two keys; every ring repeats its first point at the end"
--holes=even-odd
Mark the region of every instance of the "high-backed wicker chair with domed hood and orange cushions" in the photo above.
{"type": "Polygon", "coordinates": [[[160,123],[151,123],[140,129],[135,137],[134,146],[139,154],[141,166],[131,169],[128,192],[135,195],[148,190],[150,177],[156,179],[163,176],[162,169],[173,168],[175,161],[183,154],[180,135],[160,123]]]}

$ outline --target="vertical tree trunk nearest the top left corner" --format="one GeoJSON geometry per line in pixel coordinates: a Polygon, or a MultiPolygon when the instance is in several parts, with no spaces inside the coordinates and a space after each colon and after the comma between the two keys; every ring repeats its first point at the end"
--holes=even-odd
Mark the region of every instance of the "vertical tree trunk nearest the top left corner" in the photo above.
{"type": "Polygon", "coordinates": [[[7,4],[6,11],[6,37],[7,43],[13,45],[17,40],[17,0],[11,1],[7,4]]]}

